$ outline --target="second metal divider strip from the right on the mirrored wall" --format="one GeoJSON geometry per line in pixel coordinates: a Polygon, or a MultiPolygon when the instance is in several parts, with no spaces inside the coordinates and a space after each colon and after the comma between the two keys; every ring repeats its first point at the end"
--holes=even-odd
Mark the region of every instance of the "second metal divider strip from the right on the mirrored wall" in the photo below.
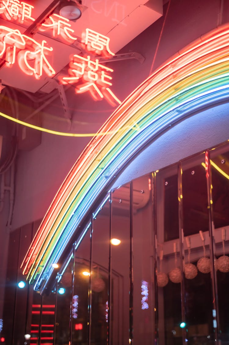
{"type": "MultiPolygon", "coordinates": [[[[183,194],[182,194],[182,166],[179,162],[178,166],[178,214],[179,214],[179,242],[180,242],[180,270],[181,270],[181,283],[180,283],[180,293],[181,293],[181,318],[182,322],[186,323],[185,320],[185,281],[184,281],[184,230],[183,230],[183,194]]],[[[182,341],[183,345],[186,344],[187,329],[182,328],[182,341]]]]}

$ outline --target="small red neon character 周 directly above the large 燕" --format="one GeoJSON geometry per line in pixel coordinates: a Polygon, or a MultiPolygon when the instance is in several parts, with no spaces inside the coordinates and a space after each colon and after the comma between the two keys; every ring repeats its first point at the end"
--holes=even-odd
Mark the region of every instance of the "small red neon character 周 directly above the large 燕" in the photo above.
{"type": "Polygon", "coordinates": [[[110,38],[91,29],[86,29],[82,34],[82,46],[87,51],[92,51],[96,55],[110,56],[114,53],[109,48],[110,38]]]}

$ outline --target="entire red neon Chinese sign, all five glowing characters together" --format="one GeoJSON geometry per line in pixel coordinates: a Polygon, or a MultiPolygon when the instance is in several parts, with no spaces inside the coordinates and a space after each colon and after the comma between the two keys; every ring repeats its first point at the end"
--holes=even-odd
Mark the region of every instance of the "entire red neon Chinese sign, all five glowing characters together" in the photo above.
{"type": "MultiPolygon", "coordinates": [[[[3,13],[8,20],[14,19],[22,22],[25,19],[34,21],[31,17],[34,7],[19,0],[0,1],[0,14],[3,13]]],[[[61,36],[71,42],[77,40],[69,19],[52,14],[39,27],[40,31],[52,30],[53,37],[61,36]]],[[[46,46],[46,41],[41,43],[33,38],[22,34],[18,29],[13,30],[6,26],[0,26],[0,58],[6,61],[6,66],[11,67],[17,60],[19,68],[27,75],[39,79],[43,71],[49,77],[55,75],[55,70],[48,61],[47,55],[53,51],[52,47],[46,46]]],[[[86,28],[82,33],[81,46],[91,55],[114,55],[109,47],[110,39],[94,30],[86,28]]],[[[121,101],[111,91],[113,69],[99,63],[98,59],[91,59],[90,55],[74,55],[69,64],[69,76],[60,78],[60,83],[77,83],[76,93],[89,91],[94,100],[105,98],[112,106],[121,101]],[[80,82],[79,82],[80,81],[80,82]]]]}

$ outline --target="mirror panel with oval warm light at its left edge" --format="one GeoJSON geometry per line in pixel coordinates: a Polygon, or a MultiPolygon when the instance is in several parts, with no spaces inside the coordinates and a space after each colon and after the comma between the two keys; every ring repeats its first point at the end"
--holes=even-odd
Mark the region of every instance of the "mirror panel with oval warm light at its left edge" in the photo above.
{"type": "Polygon", "coordinates": [[[121,240],[111,246],[110,344],[129,344],[130,317],[130,185],[112,193],[111,238],[121,240]]]}

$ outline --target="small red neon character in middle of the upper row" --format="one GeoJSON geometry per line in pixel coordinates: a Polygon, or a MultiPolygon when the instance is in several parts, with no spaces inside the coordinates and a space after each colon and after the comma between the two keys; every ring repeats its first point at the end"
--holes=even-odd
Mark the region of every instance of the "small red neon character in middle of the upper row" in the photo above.
{"type": "Polygon", "coordinates": [[[74,33],[74,30],[71,29],[71,24],[69,24],[69,19],[59,16],[59,14],[53,14],[46,20],[45,23],[42,23],[40,30],[44,31],[47,29],[53,29],[53,37],[61,35],[64,39],[76,40],[77,38],[72,36],[71,33],[74,33]]]}

